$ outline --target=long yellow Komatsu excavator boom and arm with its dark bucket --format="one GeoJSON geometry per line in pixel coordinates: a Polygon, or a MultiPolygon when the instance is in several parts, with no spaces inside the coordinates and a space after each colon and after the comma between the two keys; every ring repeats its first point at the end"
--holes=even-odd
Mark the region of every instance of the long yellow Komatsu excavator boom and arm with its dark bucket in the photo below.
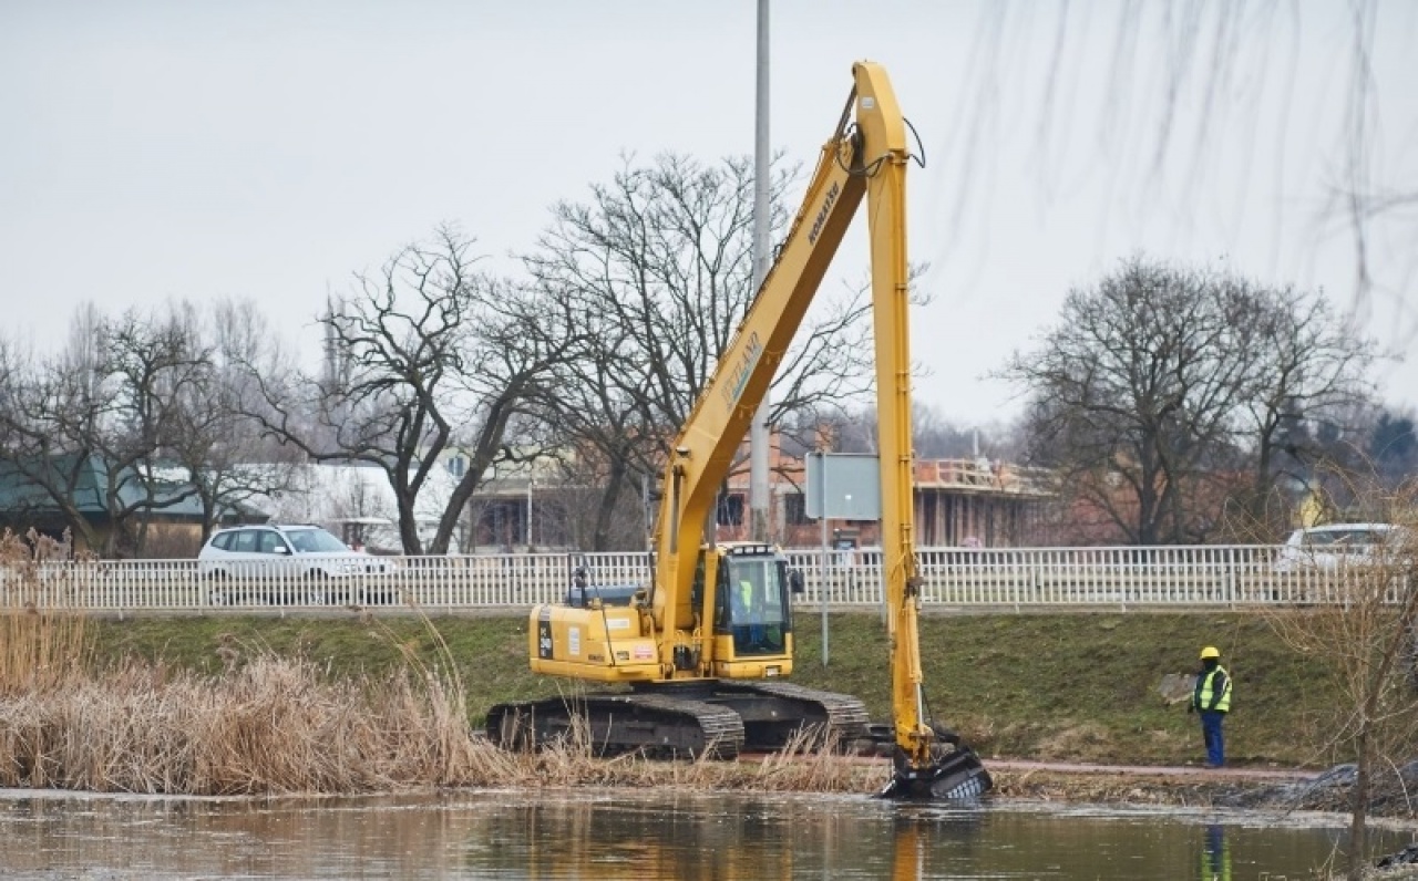
{"type": "MultiPolygon", "coordinates": [[[[988,788],[988,775],[968,751],[957,751],[954,762],[942,761],[922,688],[906,256],[906,167],[912,156],[886,72],[858,62],[852,76],[847,106],[822,146],[777,261],[671,450],[654,541],[652,615],[661,633],[699,625],[691,595],[716,493],[865,195],[896,741],[896,776],[883,795],[959,795],[961,786],[974,795],[988,788]]],[[[675,674],[671,643],[661,640],[666,678],[675,674]]]]}

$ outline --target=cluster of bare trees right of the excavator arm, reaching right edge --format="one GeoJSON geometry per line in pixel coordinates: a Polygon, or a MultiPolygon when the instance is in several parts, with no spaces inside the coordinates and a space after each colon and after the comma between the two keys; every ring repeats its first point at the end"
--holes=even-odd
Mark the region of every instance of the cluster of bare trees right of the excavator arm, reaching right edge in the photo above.
{"type": "Polygon", "coordinates": [[[1132,258],[1000,375],[1028,394],[1020,438],[1075,541],[1265,541],[1297,507],[1378,518],[1418,469],[1378,357],[1322,292],[1132,258]]]}

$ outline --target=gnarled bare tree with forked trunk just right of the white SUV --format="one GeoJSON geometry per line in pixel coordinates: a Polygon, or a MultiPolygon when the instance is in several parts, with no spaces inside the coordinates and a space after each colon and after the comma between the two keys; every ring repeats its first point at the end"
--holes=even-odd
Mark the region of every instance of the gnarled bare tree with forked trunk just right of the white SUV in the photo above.
{"type": "Polygon", "coordinates": [[[448,550],[464,507],[488,469],[515,455],[505,443],[574,333],[564,307],[474,272],[472,239],[440,228],[427,244],[360,275],[340,310],[320,319],[339,375],[259,382],[248,415],[316,462],[363,462],[393,489],[404,552],[448,550]],[[435,491],[441,456],[458,449],[468,467],[441,496],[428,547],[418,499],[435,491]]]}

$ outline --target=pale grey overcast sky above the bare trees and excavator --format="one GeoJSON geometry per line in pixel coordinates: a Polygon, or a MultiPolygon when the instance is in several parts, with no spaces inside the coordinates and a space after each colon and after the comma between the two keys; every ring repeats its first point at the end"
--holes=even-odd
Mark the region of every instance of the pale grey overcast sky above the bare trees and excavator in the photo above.
{"type": "MultiPolygon", "coordinates": [[[[967,424],[1015,415],[983,374],[1133,254],[1356,303],[1354,239],[1330,211],[1351,4],[1258,6],[1234,55],[1200,65],[1234,67],[1224,93],[1200,110],[1215,82],[1201,69],[1168,115],[1178,52],[1156,28],[1126,76],[1109,67],[1136,4],[1073,4],[1061,42],[1058,4],[773,1],[776,149],[811,164],[858,58],[885,65],[920,133],[919,399],[967,424]]],[[[1418,4],[1380,10],[1370,174],[1412,191],[1418,4]]],[[[326,292],[445,221],[515,273],[550,205],[586,198],[624,153],[752,153],[754,27],[753,0],[0,0],[6,331],[50,347],[85,300],[235,296],[313,353],[326,292]]],[[[1375,374],[1404,405],[1415,228],[1375,225],[1360,303],[1409,356],[1375,374]]],[[[828,283],[859,280],[864,249],[849,238],[828,283]]]]}

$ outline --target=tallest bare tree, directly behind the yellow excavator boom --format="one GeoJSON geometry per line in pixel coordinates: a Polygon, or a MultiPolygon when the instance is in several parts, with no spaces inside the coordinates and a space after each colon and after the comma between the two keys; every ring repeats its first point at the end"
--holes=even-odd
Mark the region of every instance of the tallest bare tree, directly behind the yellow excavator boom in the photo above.
{"type": "MultiPolygon", "coordinates": [[[[793,177],[774,174],[773,229],[786,225],[783,194],[793,177]]],[[[556,205],[525,258],[535,283],[587,330],[547,405],[605,462],[596,542],[627,487],[658,473],[753,302],[752,212],[746,159],[627,159],[588,203],[556,205]]],[[[871,388],[868,313],[865,286],[814,303],[774,380],[770,422],[845,407],[871,388]]]]}

